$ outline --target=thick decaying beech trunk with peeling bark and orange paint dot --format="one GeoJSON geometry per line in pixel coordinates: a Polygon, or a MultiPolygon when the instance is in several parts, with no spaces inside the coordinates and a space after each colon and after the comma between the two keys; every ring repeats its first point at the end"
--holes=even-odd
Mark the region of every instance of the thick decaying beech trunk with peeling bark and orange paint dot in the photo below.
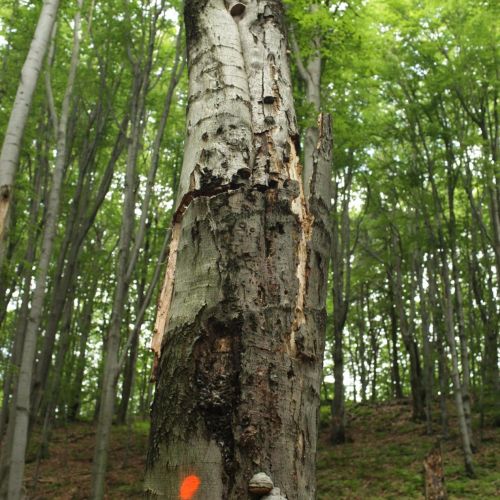
{"type": "Polygon", "coordinates": [[[204,500],[250,498],[257,472],[288,499],[315,496],[330,121],[306,200],[281,1],[235,4],[186,2],[189,109],[153,340],[151,498],[179,498],[188,476],[204,500]]]}

